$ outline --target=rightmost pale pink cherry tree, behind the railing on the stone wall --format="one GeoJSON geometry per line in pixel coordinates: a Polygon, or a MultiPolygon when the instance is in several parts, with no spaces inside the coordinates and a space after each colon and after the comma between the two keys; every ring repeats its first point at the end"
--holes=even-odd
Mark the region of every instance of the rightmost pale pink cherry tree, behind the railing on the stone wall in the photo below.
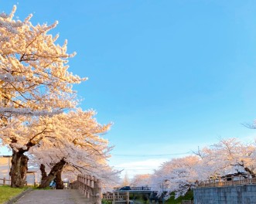
{"type": "Polygon", "coordinates": [[[254,174],[256,147],[244,144],[237,138],[221,139],[217,144],[198,151],[205,175],[220,176],[228,173],[254,174]]]}

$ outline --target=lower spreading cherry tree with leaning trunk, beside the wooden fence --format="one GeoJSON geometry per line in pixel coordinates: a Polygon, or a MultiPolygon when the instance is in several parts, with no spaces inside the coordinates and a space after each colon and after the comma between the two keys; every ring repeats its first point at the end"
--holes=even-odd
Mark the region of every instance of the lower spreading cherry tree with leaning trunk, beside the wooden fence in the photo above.
{"type": "Polygon", "coordinates": [[[30,151],[43,175],[39,188],[48,186],[54,178],[61,181],[63,170],[93,175],[104,183],[115,180],[111,178],[118,172],[111,170],[107,162],[111,147],[101,137],[111,124],[97,123],[94,115],[93,110],[77,109],[50,117],[53,130],[39,142],[39,147],[34,146],[30,151]]]}

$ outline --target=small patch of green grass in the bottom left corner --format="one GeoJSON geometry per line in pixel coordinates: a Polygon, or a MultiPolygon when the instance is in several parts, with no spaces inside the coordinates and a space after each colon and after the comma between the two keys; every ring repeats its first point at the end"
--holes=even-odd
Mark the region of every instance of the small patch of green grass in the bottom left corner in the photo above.
{"type": "Polygon", "coordinates": [[[7,185],[0,185],[0,203],[4,203],[6,201],[8,201],[9,199],[12,199],[12,197],[14,196],[18,196],[19,193],[21,193],[22,191],[25,191],[26,188],[11,188],[10,186],[7,185]]]}

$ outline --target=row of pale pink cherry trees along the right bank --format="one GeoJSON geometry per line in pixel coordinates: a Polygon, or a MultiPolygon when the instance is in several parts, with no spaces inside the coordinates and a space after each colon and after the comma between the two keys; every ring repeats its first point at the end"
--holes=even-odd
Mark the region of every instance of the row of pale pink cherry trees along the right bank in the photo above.
{"type": "Polygon", "coordinates": [[[227,174],[254,174],[256,144],[245,144],[237,138],[221,139],[193,155],[172,158],[152,175],[136,175],[131,185],[148,185],[159,191],[175,192],[176,198],[186,194],[197,181],[227,174]]]}

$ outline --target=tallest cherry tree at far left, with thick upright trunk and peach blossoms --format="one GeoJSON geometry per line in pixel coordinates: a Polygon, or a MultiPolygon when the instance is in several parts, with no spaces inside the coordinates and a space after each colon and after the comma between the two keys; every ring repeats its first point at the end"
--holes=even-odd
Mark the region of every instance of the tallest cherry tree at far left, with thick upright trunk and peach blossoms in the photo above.
{"type": "Polygon", "coordinates": [[[15,9],[0,14],[0,138],[12,148],[12,187],[22,187],[28,161],[24,153],[49,133],[48,128],[39,128],[28,135],[29,125],[24,124],[35,120],[32,117],[76,107],[72,85],[86,79],[67,71],[68,59],[75,55],[67,53],[67,41],[60,46],[58,36],[48,34],[57,22],[33,26],[32,15],[24,21],[13,19],[15,9]],[[19,132],[12,130],[13,124],[19,132]]]}

